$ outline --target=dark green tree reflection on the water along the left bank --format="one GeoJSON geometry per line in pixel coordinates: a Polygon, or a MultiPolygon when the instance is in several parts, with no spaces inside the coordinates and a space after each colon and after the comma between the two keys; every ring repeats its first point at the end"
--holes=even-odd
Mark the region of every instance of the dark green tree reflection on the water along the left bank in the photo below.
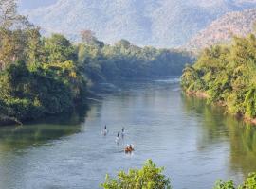
{"type": "Polygon", "coordinates": [[[40,146],[50,140],[78,133],[82,129],[85,111],[47,117],[25,126],[0,127],[0,152],[40,146]]]}

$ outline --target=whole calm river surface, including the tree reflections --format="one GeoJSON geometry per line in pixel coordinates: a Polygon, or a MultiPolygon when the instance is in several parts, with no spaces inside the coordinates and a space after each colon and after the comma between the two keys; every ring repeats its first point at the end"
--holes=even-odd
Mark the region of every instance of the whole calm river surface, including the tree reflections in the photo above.
{"type": "Polygon", "coordinates": [[[0,189],[100,188],[106,173],[147,159],[165,167],[174,189],[208,189],[220,178],[240,182],[256,171],[256,128],[182,94],[177,78],[101,89],[86,112],[0,128],[0,189]],[[135,145],[132,155],[123,152],[126,144],[135,145]]]}

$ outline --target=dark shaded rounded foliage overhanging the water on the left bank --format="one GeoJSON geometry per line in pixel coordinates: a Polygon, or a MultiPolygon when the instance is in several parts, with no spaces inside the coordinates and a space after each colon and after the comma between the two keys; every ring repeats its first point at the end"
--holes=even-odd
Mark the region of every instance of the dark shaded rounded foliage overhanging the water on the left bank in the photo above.
{"type": "Polygon", "coordinates": [[[0,77],[0,100],[6,116],[19,120],[34,119],[72,109],[85,97],[86,83],[72,62],[27,67],[11,64],[0,77]],[[58,65],[58,66],[57,66],[58,65]],[[84,95],[84,96],[82,96],[84,95]]]}

